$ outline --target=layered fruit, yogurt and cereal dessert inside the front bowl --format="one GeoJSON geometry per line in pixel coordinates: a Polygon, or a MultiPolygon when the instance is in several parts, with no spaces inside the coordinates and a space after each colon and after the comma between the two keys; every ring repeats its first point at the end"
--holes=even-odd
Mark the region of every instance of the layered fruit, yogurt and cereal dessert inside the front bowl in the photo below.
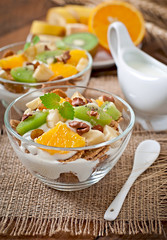
{"type": "Polygon", "coordinates": [[[26,159],[31,172],[33,169],[42,177],[61,182],[85,181],[120,145],[119,140],[98,145],[121,133],[119,122],[123,118],[112,96],[87,99],[75,92],[68,97],[61,89],[54,89],[26,106],[22,119],[10,123],[29,141],[18,141],[20,158],[23,162],[26,159]],[[91,148],[94,145],[97,147],[91,148]]]}

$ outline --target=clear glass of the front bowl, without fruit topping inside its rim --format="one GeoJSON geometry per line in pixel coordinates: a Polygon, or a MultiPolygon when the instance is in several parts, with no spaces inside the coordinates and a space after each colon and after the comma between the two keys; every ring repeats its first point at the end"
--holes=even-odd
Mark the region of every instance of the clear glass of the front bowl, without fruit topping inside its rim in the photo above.
{"type": "Polygon", "coordinates": [[[34,94],[41,96],[43,91],[55,89],[54,86],[26,93],[8,106],[4,116],[7,134],[20,161],[41,182],[61,191],[84,189],[102,179],[123,154],[134,126],[134,112],[123,99],[106,91],[81,86],[68,88],[56,86],[56,88],[64,90],[69,97],[74,91],[82,92],[87,99],[96,99],[101,95],[113,96],[115,105],[123,117],[119,123],[120,135],[107,142],[80,148],[48,147],[20,136],[10,125],[11,119],[20,120],[22,117],[23,112],[17,106],[33,100],[34,94]],[[50,155],[46,150],[67,152],[64,155],[60,153],[50,155]]]}

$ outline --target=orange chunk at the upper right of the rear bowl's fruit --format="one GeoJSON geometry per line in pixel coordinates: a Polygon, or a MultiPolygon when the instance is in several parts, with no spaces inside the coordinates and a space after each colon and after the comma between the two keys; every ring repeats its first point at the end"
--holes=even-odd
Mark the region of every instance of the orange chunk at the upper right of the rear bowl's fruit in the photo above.
{"type": "Polygon", "coordinates": [[[85,50],[73,49],[70,51],[71,58],[68,59],[67,63],[77,66],[81,58],[87,58],[85,50]]]}

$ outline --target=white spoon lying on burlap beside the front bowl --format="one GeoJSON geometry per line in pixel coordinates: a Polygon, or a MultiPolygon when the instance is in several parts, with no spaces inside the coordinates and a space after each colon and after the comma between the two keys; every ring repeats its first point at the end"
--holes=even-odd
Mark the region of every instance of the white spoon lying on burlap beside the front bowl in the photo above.
{"type": "Polygon", "coordinates": [[[154,140],[145,140],[139,144],[136,149],[132,172],[118,193],[116,198],[110,204],[104,214],[104,219],[113,221],[117,218],[124,200],[133,185],[134,181],[157,159],[160,153],[160,144],[154,140]]]}

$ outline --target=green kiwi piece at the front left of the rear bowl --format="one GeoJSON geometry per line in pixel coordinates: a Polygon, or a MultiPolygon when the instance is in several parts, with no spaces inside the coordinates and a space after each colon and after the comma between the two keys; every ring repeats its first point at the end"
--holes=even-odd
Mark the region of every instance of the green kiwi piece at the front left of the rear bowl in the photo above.
{"type": "Polygon", "coordinates": [[[10,71],[10,74],[14,78],[14,80],[18,82],[27,82],[27,83],[35,83],[36,79],[33,77],[34,71],[28,69],[26,67],[17,67],[13,68],[10,71]]]}

